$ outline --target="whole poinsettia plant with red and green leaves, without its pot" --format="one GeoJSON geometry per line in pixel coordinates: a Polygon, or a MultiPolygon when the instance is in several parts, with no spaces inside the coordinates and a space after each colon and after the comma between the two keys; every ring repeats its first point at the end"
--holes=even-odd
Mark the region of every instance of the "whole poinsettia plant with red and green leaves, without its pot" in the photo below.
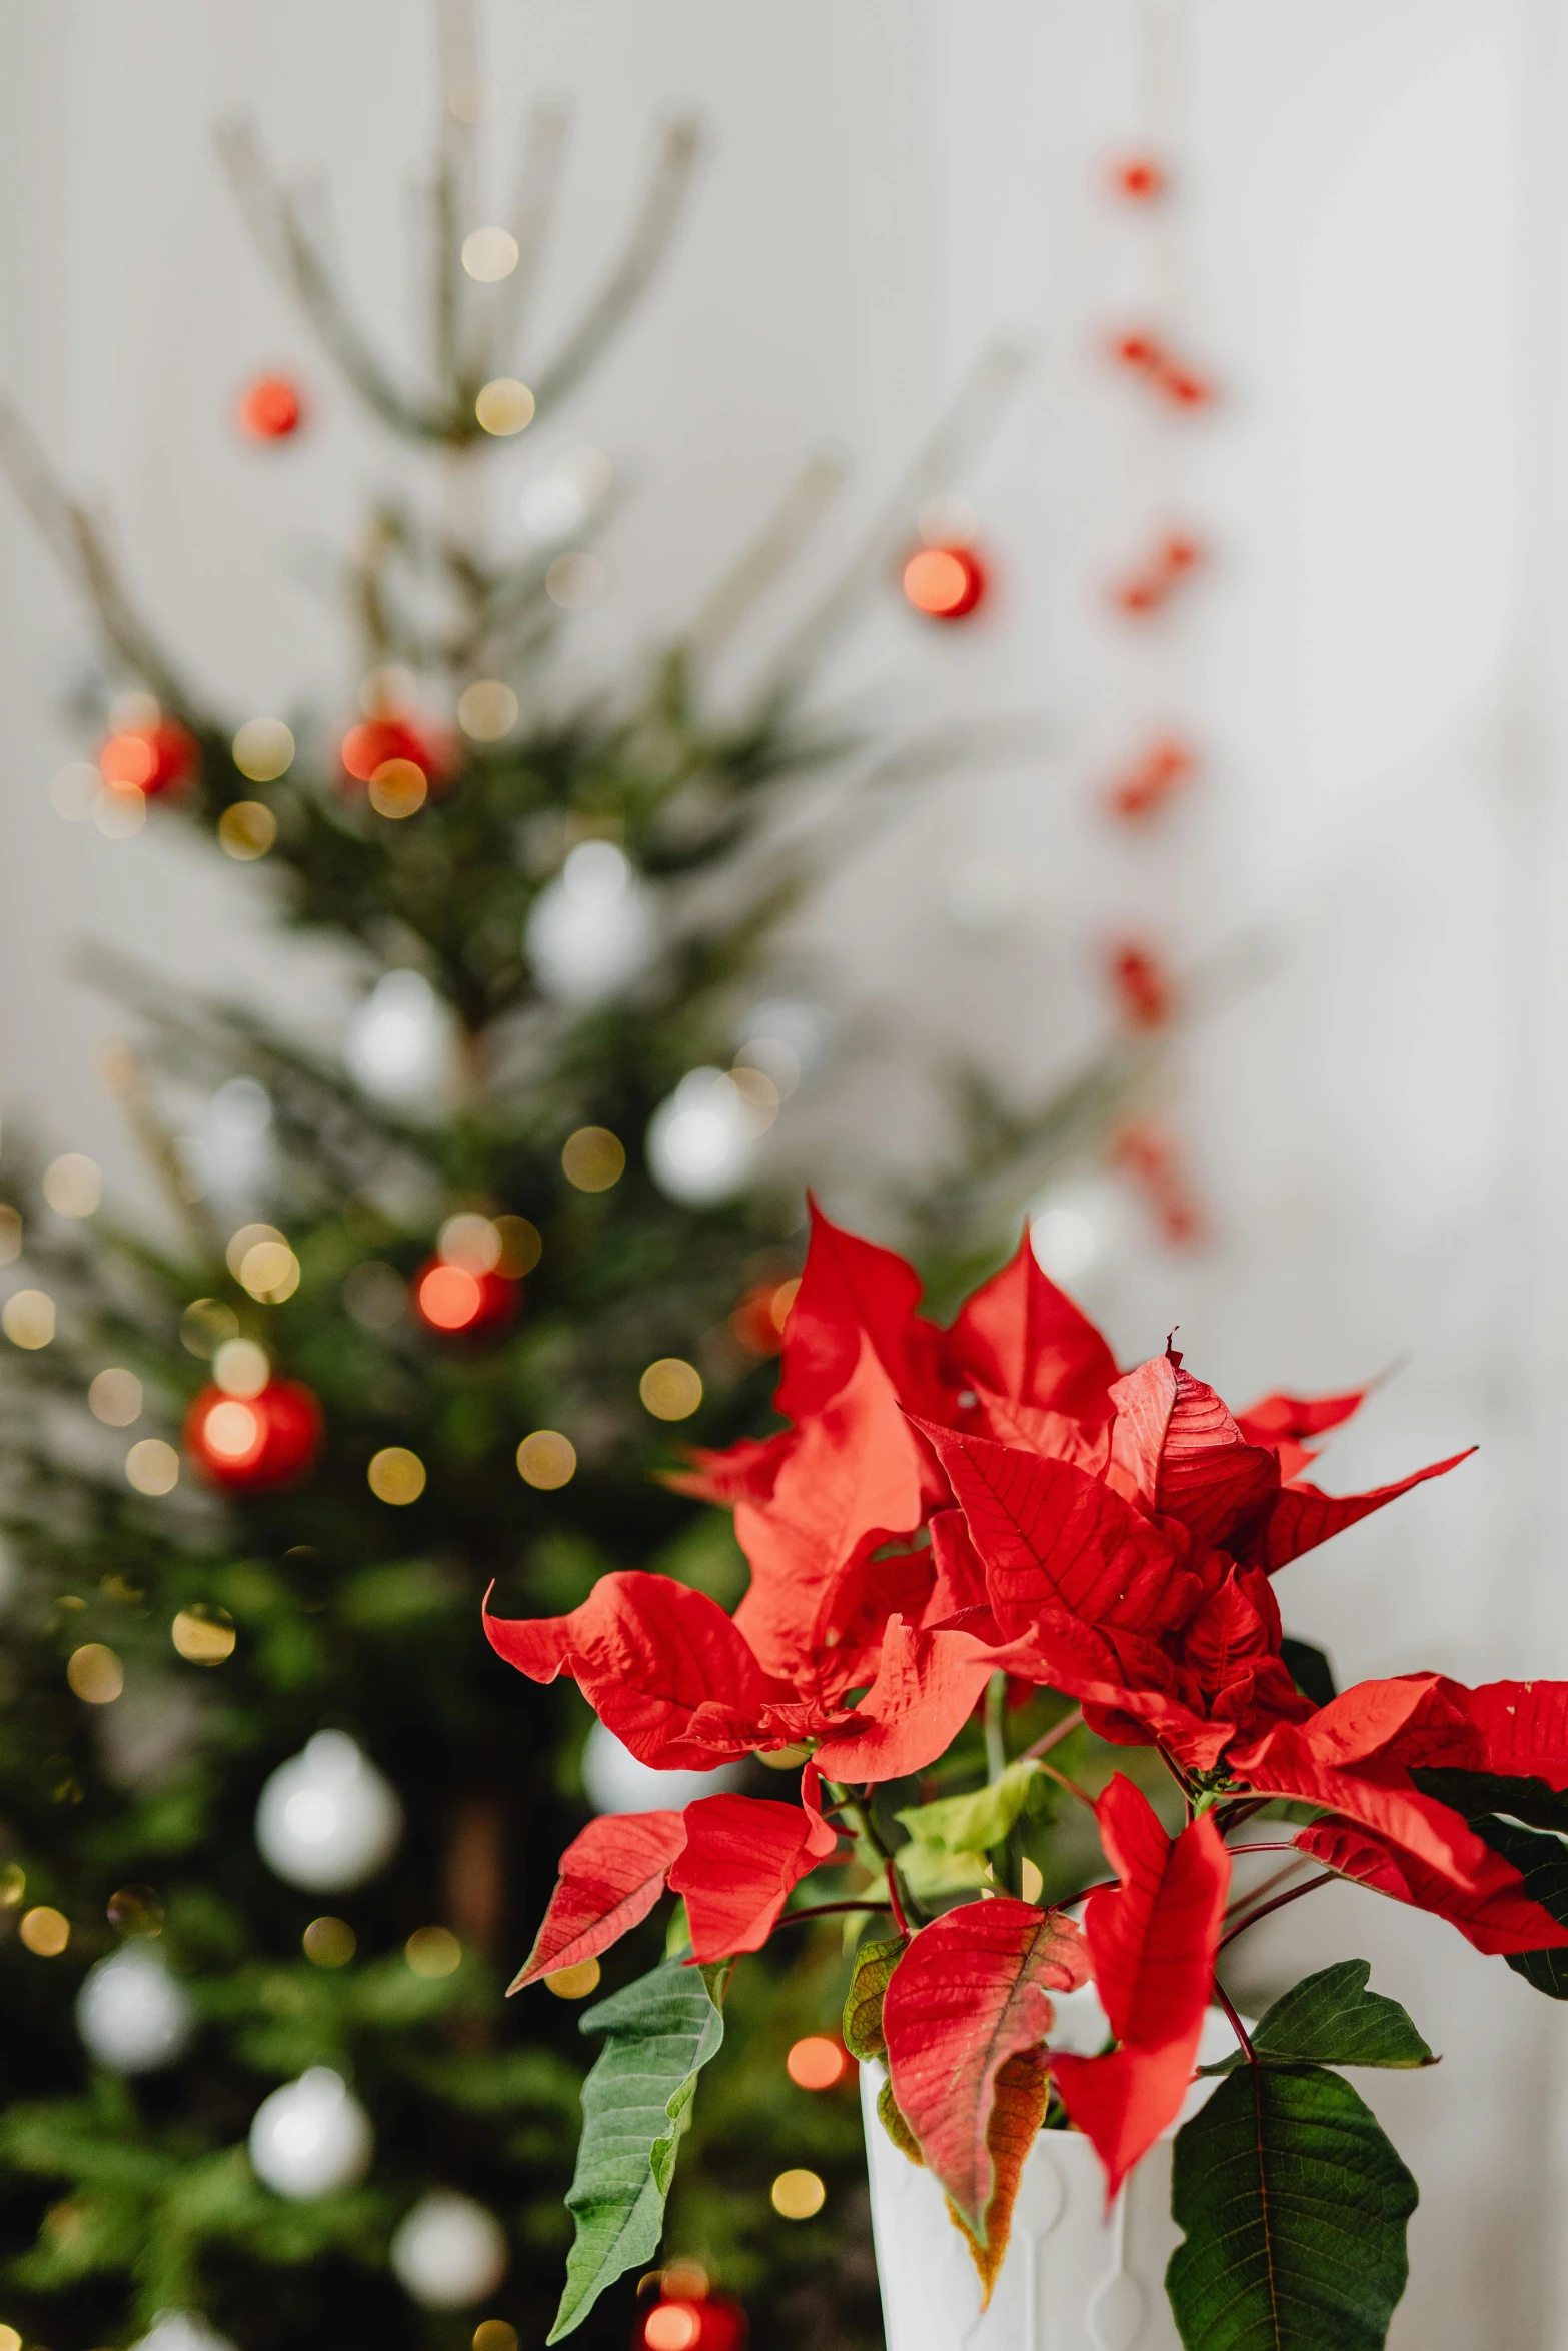
{"type": "Polygon", "coordinates": [[[785,1427],[682,1472],[733,1505],[752,1570],[733,1617],[642,1573],[571,1615],[487,1617],[505,1660],[576,1676],[649,1766],[802,1766],[799,1801],[609,1815],[562,1857],[515,1989],[597,1958],[665,1888],[682,1907],[670,1956],[583,2017],[607,2048],[552,2342],[658,2248],[733,1963],[780,1925],[867,1914],[884,1930],[856,1954],[844,2038],[886,2067],[884,2128],[945,2189],[987,2295],[1034,2135],[1081,2130],[1114,2196],[1178,2121],[1218,2003],[1237,2050],[1173,2151],[1182,2342],[1382,2344],[1415,2182],[1335,2069],[1432,2052],[1366,1961],[1251,2029],[1215,1968],[1352,1878],[1568,1996],[1568,1683],[1418,1672],[1335,1693],[1324,1653],[1286,1639],[1274,1575],[1465,1458],[1324,1493],[1312,1439],[1361,1394],[1232,1413],[1173,1347],[1119,1373],[1027,1241],[938,1328],[903,1258],[813,1215],[785,1427]],[[1009,1756],[1009,1697],[1032,1693],[1051,1721],[1009,1756]],[[1147,1749],[1128,1768],[1166,1775],[1164,1820],[1135,1777],[1098,1796],[1072,1777],[1091,1735],[1147,1749]],[[971,1759],[980,1787],[889,1815],[889,1782],[929,1794],[971,1759]],[[1039,1789],[1079,1799],[1103,1850],[1051,1904],[1020,1834],[1039,1789]],[[1053,2048],[1053,1998],[1086,1984],[1105,2045],[1053,2048]]]}

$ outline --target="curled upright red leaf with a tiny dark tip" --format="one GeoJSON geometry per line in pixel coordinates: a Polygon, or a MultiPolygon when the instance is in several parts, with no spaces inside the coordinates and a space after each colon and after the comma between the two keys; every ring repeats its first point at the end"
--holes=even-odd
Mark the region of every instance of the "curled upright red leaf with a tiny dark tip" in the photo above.
{"type": "Polygon", "coordinates": [[[1227,1542],[1279,1493],[1274,1453],[1248,1446],[1213,1387],[1182,1371],[1171,1347],[1117,1380],[1112,1404],[1112,1483],[1180,1519],[1199,1545],[1227,1542]]]}

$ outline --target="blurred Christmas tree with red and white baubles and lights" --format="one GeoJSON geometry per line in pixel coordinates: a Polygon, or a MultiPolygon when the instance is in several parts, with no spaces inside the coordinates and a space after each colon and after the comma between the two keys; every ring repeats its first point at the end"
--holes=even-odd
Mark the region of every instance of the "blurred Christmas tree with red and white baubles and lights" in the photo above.
{"type": "MultiPolygon", "coordinates": [[[[9,2346],[543,2339],[592,1984],[562,1982],[548,2015],[503,1989],[585,1803],[656,1799],[614,1742],[585,1747],[569,1686],[520,1690],[480,1601],[567,1610],[628,1566],[736,1596],[729,1519],[658,1472],[766,1413],[804,1220],[764,1136],[811,1084],[827,1011],[780,994],[780,929],[877,778],[950,752],[849,741],[809,689],[983,433],[999,364],[738,701],[715,701],[712,663],[825,503],[820,465],[675,644],[592,694],[562,684],[614,468],[578,451],[541,473],[510,548],[489,545],[484,468],[567,407],[642,299],[696,132],[663,134],[604,284],[524,353],[559,120],[536,115],[510,223],[487,226],[458,63],[416,388],[259,146],[226,141],[322,350],[442,463],[440,513],[383,501],[350,567],[355,724],[216,710],[5,426],[103,651],[78,712],[96,764],[56,804],[85,795],[110,832],[195,828],[367,983],[339,1063],[256,1009],[113,973],[139,1046],[108,1074],[162,1227],[101,1206],[80,1154],[7,1131],[9,2346]]],[[[294,381],[247,393],[259,442],[306,423],[294,381]]],[[[931,604],[938,581],[926,609],[961,616],[980,574],[940,552],[961,595],[931,604]]],[[[903,1178],[889,1227],[959,1281],[1135,1074],[1110,1053],[1027,1114],[969,1081],[950,1161],[903,1178]]],[[[646,1963],[632,1937],[614,1968],[646,1963]]],[[[752,2302],[764,2344],[875,2335],[846,2229],[858,2114],[785,2071],[839,1977],[835,1933],[752,1970],[726,2027],[741,2062],[682,2163],[670,2243],[752,2302]],[[792,2163],[827,2182],[820,2219],[773,2210],[792,2163]]],[[[609,2297],[588,2339],[625,2325],[609,2297]]]]}

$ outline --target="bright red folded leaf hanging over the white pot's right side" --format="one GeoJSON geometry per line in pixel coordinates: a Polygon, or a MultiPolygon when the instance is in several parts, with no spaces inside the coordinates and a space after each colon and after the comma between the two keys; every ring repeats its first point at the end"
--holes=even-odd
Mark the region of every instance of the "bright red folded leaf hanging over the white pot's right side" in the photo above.
{"type": "Polygon", "coordinates": [[[1095,1989],[1121,2043],[1107,2057],[1053,2057],[1063,2104],[1105,2165],[1107,2198],[1180,2109],[1197,2059],[1229,1888],[1211,1815],[1168,1838],[1119,1773],[1095,1806],[1121,1890],[1088,1897],[1095,1989]]]}

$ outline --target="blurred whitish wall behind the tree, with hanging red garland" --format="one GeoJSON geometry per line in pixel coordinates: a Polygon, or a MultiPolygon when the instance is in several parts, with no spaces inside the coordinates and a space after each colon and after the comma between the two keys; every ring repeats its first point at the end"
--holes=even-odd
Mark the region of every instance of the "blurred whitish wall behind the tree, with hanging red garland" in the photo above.
{"type": "MultiPolygon", "coordinates": [[[[684,625],[832,449],[849,484],[806,597],[980,353],[1023,360],[961,503],[926,517],[980,564],[976,611],[933,623],[893,564],[813,686],[872,729],[1027,722],[912,785],[799,917],[797,962],[837,976],[870,1046],[865,1168],[929,1143],[912,1041],[1034,1096],[1119,1020],[1157,1027],[1140,985],[1168,983],[1157,1140],[1051,1176],[1051,1270],[1126,1361],[1180,1326],[1232,1401],[1396,1366],[1333,1446],[1335,1488],[1481,1444],[1291,1570],[1286,1622],[1342,1679],[1568,1672],[1559,12],[482,0],[480,33],[508,136],[538,96],[574,106],[545,327],[618,235],[651,122],[696,108],[710,141],[574,416],[635,482],[564,656],[583,679],[684,625]]],[[[212,127],[244,113],[280,172],[331,186],[357,313],[395,343],[435,113],[423,0],[9,0],[0,61],[0,386],[223,708],[348,708],[331,550],[407,458],[247,247],[212,127]],[[259,454],[235,402],[263,371],[310,418],[259,454]]],[[[527,433],[505,463],[515,503],[527,433]]],[[[0,548],[0,1093],[160,1215],[78,943],[322,1046],[350,971],[280,943],[207,844],[61,820],[87,625],[12,498],[0,548]]],[[[827,1204],[853,1215],[867,1185],[851,1164],[827,1204]]],[[[1392,2342],[1568,2344],[1561,2020],[1349,1890],[1279,1937],[1265,1975],[1366,1951],[1446,2052],[1375,2092],[1422,2184],[1392,2342]]]]}

